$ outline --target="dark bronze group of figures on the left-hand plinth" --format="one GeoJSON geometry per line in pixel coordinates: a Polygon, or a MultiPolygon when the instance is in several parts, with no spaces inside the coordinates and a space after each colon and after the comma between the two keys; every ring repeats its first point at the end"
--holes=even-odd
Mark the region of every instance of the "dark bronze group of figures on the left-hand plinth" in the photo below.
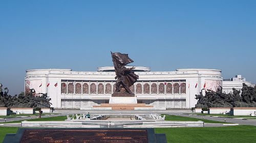
{"type": "Polygon", "coordinates": [[[2,89],[3,85],[0,84],[0,107],[23,107],[23,108],[49,108],[51,106],[51,98],[47,98],[47,94],[37,94],[41,96],[34,96],[35,90],[31,89],[26,95],[19,94],[18,96],[8,95],[8,89],[5,92],[2,89]]]}

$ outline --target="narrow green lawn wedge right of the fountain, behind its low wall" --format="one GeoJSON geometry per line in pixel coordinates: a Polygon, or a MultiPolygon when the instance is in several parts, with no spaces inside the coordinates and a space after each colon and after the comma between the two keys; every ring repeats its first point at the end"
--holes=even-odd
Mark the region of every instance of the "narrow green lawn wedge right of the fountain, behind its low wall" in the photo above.
{"type": "Polygon", "coordinates": [[[175,115],[165,115],[165,121],[204,121],[204,123],[226,123],[227,122],[219,122],[219,121],[212,121],[206,119],[197,119],[191,117],[182,117],[182,116],[175,116],[175,115]]]}

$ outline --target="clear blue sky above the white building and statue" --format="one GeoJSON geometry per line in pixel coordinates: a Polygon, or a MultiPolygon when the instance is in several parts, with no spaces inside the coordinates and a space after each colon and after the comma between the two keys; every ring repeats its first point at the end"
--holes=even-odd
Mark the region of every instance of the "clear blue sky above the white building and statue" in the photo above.
{"type": "Polygon", "coordinates": [[[0,1],[0,82],[27,69],[96,71],[110,51],[152,71],[221,69],[256,82],[256,1],[0,1]]]}

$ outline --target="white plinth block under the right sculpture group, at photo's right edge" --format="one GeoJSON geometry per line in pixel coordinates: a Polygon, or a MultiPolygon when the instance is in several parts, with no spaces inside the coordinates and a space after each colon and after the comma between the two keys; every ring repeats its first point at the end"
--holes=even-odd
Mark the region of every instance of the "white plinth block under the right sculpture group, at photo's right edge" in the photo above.
{"type": "Polygon", "coordinates": [[[256,107],[233,107],[230,113],[233,116],[256,116],[256,107]]]}

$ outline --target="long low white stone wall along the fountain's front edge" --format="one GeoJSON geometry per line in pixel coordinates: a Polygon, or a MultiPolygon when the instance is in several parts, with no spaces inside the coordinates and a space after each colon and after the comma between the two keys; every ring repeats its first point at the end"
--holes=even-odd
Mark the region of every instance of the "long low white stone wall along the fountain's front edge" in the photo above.
{"type": "Polygon", "coordinates": [[[22,127],[47,128],[99,128],[100,125],[123,125],[124,128],[173,128],[173,127],[203,127],[202,121],[22,121],[22,127]],[[122,124],[122,122],[124,124],[122,124]],[[111,124],[110,124],[111,123],[111,124]]]}

